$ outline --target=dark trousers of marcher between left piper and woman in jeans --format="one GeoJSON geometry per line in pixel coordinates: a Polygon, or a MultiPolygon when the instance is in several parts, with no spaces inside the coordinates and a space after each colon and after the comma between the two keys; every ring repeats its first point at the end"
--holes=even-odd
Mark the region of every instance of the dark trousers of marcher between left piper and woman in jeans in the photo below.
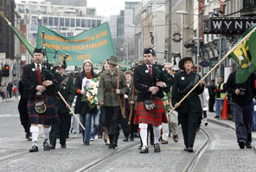
{"type": "Polygon", "coordinates": [[[59,114],[59,118],[61,120],[60,124],[56,124],[52,126],[51,132],[50,132],[50,144],[56,145],[56,138],[57,138],[57,132],[60,131],[60,144],[65,145],[66,139],[67,139],[67,132],[69,130],[68,128],[68,122],[70,118],[70,114],[59,114]]]}

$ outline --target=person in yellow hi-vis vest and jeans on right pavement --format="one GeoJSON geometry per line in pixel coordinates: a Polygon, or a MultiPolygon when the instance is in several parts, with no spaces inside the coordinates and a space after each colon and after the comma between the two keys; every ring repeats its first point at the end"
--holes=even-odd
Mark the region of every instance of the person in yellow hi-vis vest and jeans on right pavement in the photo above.
{"type": "Polygon", "coordinates": [[[223,80],[223,77],[219,77],[217,87],[215,89],[215,97],[216,97],[216,116],[214,118],[221,117],[221,110],[224,103],[224,98],[226,96],[226,86],[223,80]]]}

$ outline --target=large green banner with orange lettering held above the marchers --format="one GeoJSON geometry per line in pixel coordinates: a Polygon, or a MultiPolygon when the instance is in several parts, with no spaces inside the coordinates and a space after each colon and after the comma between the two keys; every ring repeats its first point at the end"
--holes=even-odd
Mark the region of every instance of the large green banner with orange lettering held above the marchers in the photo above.
{"type": "Polygon", "coordinates": [[[55,62],[62,60],[68,54],[67,65],[82,65],[86,59],[90,59],[96,68],[101,66],[106,58],[116,54],[107,22],[73,37],[64,37],[53,30],[39,26],[37,48],[42,48],[42,31],[49,63],[54,59],[55,50],[58,50],[55,62]]]}

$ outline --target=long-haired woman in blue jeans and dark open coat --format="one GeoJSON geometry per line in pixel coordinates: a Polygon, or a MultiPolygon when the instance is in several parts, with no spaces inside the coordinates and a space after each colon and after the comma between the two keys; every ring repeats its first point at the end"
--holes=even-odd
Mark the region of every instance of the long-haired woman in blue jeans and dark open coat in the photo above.
{"type": "Polygon", "coordinates": [[[76,93],[78,94],[76,98],[76,105],[80,102],[80,119],[82,124],[86,127],[86,130],[82,131],[83,142],[85,145],[90,144],[90,134],[92,126],[92,118],[97,114],[97,106],[90,106],[91,103],[83,99],[86,96],[87,89],[90,86],[93,78],[96,77],[93,71],[93,63],[91,60],[85,60],[82,65],[83,71],[77,75],[74,83],[76,93]]]}

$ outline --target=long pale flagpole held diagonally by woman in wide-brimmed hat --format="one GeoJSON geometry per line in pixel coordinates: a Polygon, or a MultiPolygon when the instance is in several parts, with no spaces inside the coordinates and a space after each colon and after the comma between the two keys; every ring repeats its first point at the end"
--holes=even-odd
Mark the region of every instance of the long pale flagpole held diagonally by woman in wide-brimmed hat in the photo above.
{"type": "MultiPolygon", "coordinates": [[[[215,64],[214,67],[213,67],[210,71],[208,71],[208,73],[207,73],[204,77],[202,77],[201,80],[204,80],[206,77],[208,77],[208,75],[209,75],[212,71],[214,71],[214,69],[215,69],[219,64],[221,64],[221,63],[229,56],[229,54],[230,54],[231,52],[234,52],[234,49],[235,49],[237,46],[239,46],[240,43],[242,43],[244,40],[246,40],[247,37],[248,37],[248,35],[253,34],[253,32],[254,32],[255,30],[256,30],[256,27],[253,28],[253,30],[251,30],[251,32],[249,32],[248,34],[246,34],[246,36],[245,36],[242,40],[240,40],[240,41],[236,44],[236,46],[234,46],[233,48],[231,48],[231,49],[227,52],[227,54],[226,54],[223,58],[221,58],[221,61],[219,61],[217,64],[215,64]]],[[[221,50],[220,50],[220,53],[221,53],[221,50]]],[[[185,96],[182,98],[181,101],[178,102],[178,104],[181,104],[182,101],[184,101],[184,100],[194,91],[194,89],[195,89],[198,85],[199,85],[199,83],[196,83],[195,86],[189,91],[189,93],[188,93],[187,95],[185,95],[185,96]]],[[[168,113],[168,114],[171,114],[175,109],[176,109],[176,107],[174,107],[174,108],[170,111],[170,113],[168,113]]]]}

